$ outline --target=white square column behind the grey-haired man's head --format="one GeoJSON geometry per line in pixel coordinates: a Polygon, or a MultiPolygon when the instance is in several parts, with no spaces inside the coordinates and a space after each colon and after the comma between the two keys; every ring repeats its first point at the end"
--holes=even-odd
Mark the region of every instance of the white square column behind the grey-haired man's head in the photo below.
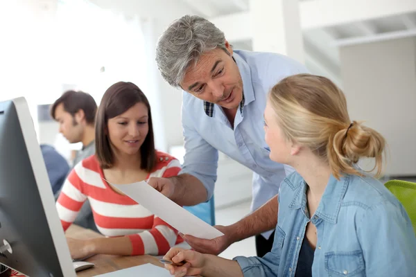
{"type": "Polygon", "coordinates": [[[288,55],[304,63],[299,1],[250,0],[254,51],[288,55]]]}

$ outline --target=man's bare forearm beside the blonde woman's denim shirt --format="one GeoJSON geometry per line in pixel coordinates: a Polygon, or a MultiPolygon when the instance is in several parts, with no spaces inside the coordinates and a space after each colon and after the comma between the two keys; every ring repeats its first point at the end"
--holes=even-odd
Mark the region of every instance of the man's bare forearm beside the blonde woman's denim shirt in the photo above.
{"type": "Polygon", "coordinates": [[[250,215],[229,226],[233,229],[232,240],[238,242],[253,235],[275,229],[278,210],[279,203],[276,195],[250,215]]]}

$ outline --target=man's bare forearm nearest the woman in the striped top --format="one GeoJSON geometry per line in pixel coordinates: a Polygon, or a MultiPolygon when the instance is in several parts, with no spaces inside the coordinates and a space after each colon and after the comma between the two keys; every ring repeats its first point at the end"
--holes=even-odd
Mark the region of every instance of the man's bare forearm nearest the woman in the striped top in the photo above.
{"type": "Polygon", "coordinates": [[[171,179],[175,184],[172,199],[178,205],[193,206],[207,201],[207,189],[198,178],[181,174],[171,179]]]}

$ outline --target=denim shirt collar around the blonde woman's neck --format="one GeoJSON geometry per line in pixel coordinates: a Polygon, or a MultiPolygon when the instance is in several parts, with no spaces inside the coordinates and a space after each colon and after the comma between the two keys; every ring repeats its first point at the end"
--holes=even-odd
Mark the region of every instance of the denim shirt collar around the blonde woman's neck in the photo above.
{"type": "MultiPolygon", "coordinates": [[[[350,179],[351,175],[341,177],[340,181],[333,177],[333,175],[329,177],[327,188],[325,188],[324,195],[322,195],[319,206],[315,211],[315,216],[336,224],[338,213],[340,212],[341,204],[350,179]]],[[[286,183],[288,183],[288,181],[286,181],[286,183]]],[[[289,208],[302,208],[302,212],[307,217],[312,216],[306,213],[306,207],[306,182],[302,179],[302,181],[297,184],[295,196],[293,197],[293,201],[289,205],[289,208]]]]}

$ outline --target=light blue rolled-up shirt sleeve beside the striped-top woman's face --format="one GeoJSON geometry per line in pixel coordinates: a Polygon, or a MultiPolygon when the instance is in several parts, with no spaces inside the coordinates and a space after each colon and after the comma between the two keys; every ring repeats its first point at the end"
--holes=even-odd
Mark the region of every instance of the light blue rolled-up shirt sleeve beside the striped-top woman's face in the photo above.
{"type": "Polygon", "coordinates": [[[184,136],[184,164],[179,174],[187,173],[198,178],[207,189],[207,200],[214,194],[217,179],[218,150],[198,134],[187,107],[182,105],[184,136]]]}

